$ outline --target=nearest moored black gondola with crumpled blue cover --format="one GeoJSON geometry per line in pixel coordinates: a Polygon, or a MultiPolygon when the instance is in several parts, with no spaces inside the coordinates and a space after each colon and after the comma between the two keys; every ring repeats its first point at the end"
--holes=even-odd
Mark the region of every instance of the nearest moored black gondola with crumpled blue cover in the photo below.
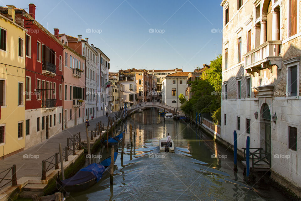
{"type": "MultiPolygon", "coordinates": [[[[114,152],[114,164],[117,159],[118,152],[114,152]]],[[[113,165],[114,165],[113,164],[113,165]]],[[[101,161],[100,163],[92,163],[85,168],[79,170],[73,177],[61,180],[59,174],[56,178],[56,187],[59,191],[78,192],[83,191],[95,183],[109,172],[111,167],[111,156],[101,161]]]]}

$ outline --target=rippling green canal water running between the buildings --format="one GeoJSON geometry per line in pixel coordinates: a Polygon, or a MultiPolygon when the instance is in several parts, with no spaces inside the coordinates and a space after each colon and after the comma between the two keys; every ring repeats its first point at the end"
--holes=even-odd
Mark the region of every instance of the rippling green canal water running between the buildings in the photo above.
{"type": "Polygon", "coordinates": [[[120,145],[114,185],[107,175],[92,188],[71,193],[67,200],[289,200],[265,179],[246,184],[243,166],[239,164],[235,174],[232,154],[193,124],[164,122],[157,109],[148,109],[128,117],[124,130],[124,158],[120,160],[120,145]],[[134,121],[135,146],[131,147],[129,124],[134,121]],[[174,140],[175,153],[159,152],[158,140],[166,133],[174,140]]]}

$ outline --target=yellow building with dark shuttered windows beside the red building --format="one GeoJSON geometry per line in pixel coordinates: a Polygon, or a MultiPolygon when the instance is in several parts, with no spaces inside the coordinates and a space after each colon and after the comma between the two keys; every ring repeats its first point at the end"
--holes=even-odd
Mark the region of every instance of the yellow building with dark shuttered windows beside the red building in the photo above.
{"type": "Polygon", "coordinates": [[[15,11],[0,14],[0,160],[25,147],[25,29],[15,11]]]}

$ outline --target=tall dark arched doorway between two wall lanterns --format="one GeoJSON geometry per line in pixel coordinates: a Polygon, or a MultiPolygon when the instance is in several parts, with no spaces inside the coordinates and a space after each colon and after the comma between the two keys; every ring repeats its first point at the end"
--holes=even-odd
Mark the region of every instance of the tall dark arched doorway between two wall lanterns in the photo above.
{"type": "MultiPolygon", "coordinates": [[[[267,103],[261,106],[260,128],[261,148],[263,148],[263,152],[271,153],[271,112],[267,103]]],[[[270,160],[270,157],[268,159],[270,160]]]]}

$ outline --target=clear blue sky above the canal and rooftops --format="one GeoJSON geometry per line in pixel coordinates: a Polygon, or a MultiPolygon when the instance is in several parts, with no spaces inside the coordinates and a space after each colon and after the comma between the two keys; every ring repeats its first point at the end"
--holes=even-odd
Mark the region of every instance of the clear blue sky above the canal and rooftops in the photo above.
{"type": "Polygon", "coordinates": [[[205,0],[0,0],[34,3],[36,20],[71,36],[88,37],[110,59],[110,72],[127,68],[193,71],[221,53],[222,7],[205,0]],[[91,29],[91,33],[86,30],[91,29]],[[159,33],[151,33],[154,29],[159,33]],[[94,33],[92,33],[94,31],[94,33]],[[101,32],[101,33],[100,33],[101,32]],[[164,33],[160,33],[164,32],[164,33]],[[217,45],[217,46],[216,46],[217,45]],[[217,51],[217,53],[213,52],[217,51]]]}

